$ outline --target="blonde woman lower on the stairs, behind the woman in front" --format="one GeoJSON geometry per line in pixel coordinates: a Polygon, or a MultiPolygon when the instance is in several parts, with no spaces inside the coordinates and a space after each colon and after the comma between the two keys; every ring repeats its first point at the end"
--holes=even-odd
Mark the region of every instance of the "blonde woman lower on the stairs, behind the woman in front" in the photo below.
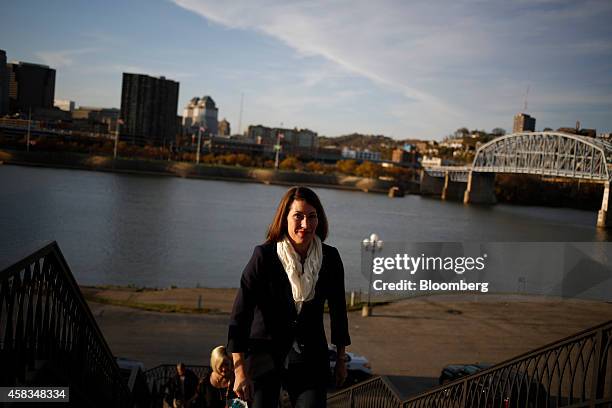
{"type": "Polygon", "coordinates": [[[197,406],[204,408],[224,408],[228,401],[235,398],[232,387],[234,372],[232,362],[225,351],[219,346],[210,353],[211,372],[198,384],[197,406]]]}

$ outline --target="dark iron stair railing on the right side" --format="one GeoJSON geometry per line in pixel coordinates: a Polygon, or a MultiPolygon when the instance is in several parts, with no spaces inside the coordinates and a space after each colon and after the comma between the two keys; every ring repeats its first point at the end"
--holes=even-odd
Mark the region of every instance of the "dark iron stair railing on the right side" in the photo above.
{"type": "Polygon", "coordinates": [[[612,321],[404,401],[399,401],[399,393],[385,380],[376,377],[335,393],[328,398],[328,405],[339,408],[612,406],[612,321]]]}

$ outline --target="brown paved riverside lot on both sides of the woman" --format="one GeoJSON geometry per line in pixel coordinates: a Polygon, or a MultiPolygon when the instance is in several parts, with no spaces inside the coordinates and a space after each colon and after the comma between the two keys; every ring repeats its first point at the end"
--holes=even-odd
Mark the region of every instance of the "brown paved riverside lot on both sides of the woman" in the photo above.
{"type": "MultiPolygon", "coordinates": [[[[225,344],[229,314],[158,313],[90,302],[117,356],[146,368],[185,361],[208,364],[225,344]]],[[[349,313],[353,344],[377,374],[436,378],[449,363],[496,363],[612,320],[612,304],[533,297],[405,300],[349,313]]],[[[329,334],[329,331],[328,331],[329,334]]]]}

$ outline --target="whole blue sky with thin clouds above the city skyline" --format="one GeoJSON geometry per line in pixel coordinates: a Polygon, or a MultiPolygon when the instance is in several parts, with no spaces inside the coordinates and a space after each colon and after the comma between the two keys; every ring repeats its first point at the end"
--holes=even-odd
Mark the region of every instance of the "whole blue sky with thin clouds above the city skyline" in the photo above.
{"type": "Polygon", "coordinates": [[[56,99],[77,106],[120,107],[123,72],[163,75],[178,114],[210,95],[233,133],[441,140],[510,132],[518,112],[602,133],[610,21],[610,0],[20,0],[2,6],[0,49],[56,69],[56,99]]]}

